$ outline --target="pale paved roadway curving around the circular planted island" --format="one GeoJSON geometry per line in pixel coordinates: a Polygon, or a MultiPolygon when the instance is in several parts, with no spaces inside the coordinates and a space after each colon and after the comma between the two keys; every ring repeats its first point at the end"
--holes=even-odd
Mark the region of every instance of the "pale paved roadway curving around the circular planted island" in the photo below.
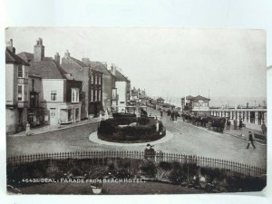
{"type": "MultiPolygon", "coordinates": [[[[155,110],[149,109],[152,115],[155,110]]],[[[198,156],[232,160],[249,165],[265,168],[267,166],[267,146],[256,144],[257,149],[252,147],[247,150],[247,141],[240,140],[228,134],[203,130],[182,121],[170,121],[170,117],[164,114],[163,123],[174,138],[165,143],[155,145],[155,150],[164,152],[195,154],[198,156]]],[[[29,137],[7,137],[7,155],[33,154],[44,152],[63,151],[143,151],[144,146],[138,147],[115,147],[96,144],[89,141],[89,129],[81,127],[73,131],[65,131],[63,134],[46,134],[29,137]]],[[[93,125],[92,131],[96,130],[93,125]]]]}

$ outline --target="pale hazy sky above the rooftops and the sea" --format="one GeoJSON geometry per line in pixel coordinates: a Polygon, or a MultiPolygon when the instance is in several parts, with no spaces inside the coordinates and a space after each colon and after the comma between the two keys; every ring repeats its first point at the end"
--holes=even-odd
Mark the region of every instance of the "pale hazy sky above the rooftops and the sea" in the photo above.
{"type": "Polygon", "coordinates": [[[69,50],[77,59],[116,64],[151,96],[265,97],[266,32],[201,28],[7,28],[16,53],[69,50]]]}

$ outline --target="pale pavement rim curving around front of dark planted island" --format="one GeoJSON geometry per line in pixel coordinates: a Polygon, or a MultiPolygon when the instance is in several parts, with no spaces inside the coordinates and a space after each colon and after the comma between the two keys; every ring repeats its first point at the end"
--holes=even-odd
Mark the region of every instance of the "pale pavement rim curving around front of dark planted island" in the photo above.
{"type": "Polygon", "coordinates": [[[158,141],[149,141],[149,142],[139,142],[139,143],[123,143],[123,142],[112,142],[112,141],[102,141],[98,138],[97,131],[93,131],[89,136],[89,141],[93,143],[102,144],[102,145],[111,145],[111,146],[128,146],[128,147],[137,147],[137,146],[146,146],[148,143],[151,145],[164,143],[173,139],[174,135],[170,131],[166,131],[166,135],[158,141]]]}

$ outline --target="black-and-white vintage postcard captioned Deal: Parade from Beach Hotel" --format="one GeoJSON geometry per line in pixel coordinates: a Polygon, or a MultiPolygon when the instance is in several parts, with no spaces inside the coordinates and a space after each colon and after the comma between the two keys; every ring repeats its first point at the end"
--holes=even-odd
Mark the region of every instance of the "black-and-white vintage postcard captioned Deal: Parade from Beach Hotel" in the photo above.
{"type": "Polygon", "coordinates": [[[8,27],[10,194],[267,185],[263,30],[8,27]]]}

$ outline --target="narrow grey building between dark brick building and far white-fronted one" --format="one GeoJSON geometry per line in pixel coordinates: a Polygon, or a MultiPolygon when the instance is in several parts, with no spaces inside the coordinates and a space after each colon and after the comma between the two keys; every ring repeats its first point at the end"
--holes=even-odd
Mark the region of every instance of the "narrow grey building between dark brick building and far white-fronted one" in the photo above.
{"type": "MultiPolygon", "coordinates": [[[[115,76],[112,70],[108,70],[107,63],[93,62],[89,58],[83,58],[83,63],[86,63],[92,70],[102,73],[102,109],[112,111],[112,90],[115,89],[115,76]]],[[[116,101],[114,99],[113,101],[116,101]]]]}

